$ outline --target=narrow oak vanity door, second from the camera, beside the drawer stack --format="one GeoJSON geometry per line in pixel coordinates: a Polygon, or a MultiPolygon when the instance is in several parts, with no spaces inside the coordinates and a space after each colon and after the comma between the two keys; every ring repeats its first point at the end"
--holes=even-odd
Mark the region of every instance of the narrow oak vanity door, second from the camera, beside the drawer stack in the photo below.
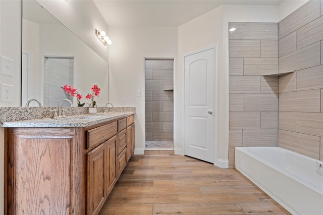
{"type": "Polygon", "coordinates": [[[106,142],[107,148],[107,156],[108,156],[108,164],[107,164],[107,195],[111,192],[113,187],[117,182],[117,175],[116,175],[116,147],[117,147],[117,135],[112,137],[106,142]]]}

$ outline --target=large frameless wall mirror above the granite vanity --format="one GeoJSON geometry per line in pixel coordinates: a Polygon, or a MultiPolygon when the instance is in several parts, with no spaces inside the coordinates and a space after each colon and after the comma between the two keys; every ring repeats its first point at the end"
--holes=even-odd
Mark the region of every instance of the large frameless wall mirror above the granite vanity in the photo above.
{"type": "MultiPolygon", "coordinates": [[[[36,1],[22,1],[22,105],[37,99],[44,106],[57,106],[66,94],[65,84],[79,93],[90,93],[94,84],[101,88],[96,103],[108,98],[108,64],[73,32],[47,12],[36,1]]],[[[94,34],[94,29],[93,29],[94,34]]],[[[30,102],[30,106],[38,106],[30,102]]]]}

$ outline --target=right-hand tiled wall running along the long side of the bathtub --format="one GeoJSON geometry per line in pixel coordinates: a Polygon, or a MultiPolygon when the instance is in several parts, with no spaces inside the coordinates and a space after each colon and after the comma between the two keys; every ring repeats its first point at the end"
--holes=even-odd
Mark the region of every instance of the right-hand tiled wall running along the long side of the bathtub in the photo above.
{"type": "Polygon", "coordinates": [[[323,1],[279,22],[278,145],[323,160],[323,1]]]}

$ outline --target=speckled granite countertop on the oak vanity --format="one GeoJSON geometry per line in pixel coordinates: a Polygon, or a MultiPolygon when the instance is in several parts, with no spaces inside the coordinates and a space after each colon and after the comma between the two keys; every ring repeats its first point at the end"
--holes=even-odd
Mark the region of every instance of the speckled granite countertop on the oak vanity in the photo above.
{"type": "Polygon", "coordinates": [[[22,121],[3,122],[2,127],[29,127],[29,128],[65,128],[65,127],[88,127],[98,123],[111,121],[114,119],[128,117],[135,114],[133,111],[107,112],[97,114],[81,114],[67,116],[65,118],[43,118],[22,121]]]}

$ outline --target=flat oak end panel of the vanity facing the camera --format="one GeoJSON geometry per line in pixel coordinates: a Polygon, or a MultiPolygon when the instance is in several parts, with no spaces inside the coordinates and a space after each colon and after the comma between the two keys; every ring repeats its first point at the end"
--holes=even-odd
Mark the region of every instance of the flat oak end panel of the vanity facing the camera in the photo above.
{"type": "Polygon", "coordinates": [[[10,128],[5,136],[5,214],[82,214],[77,130],[10,128]]]}

